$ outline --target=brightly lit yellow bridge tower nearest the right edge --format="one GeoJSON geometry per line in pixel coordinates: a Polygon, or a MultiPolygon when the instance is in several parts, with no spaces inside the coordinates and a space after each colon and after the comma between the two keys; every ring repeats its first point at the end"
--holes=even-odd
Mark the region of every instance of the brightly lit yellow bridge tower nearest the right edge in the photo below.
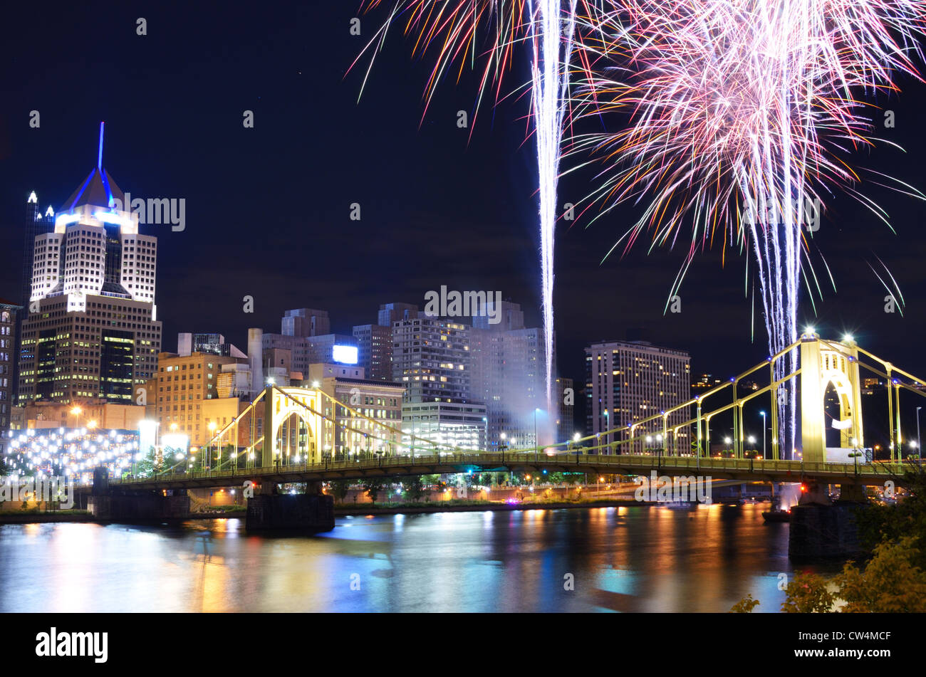
{"type": "MultiPolygon", "coordinates": [[[[801,336],[800,383],[801,447],[805,462],[827,461],[824,397],[832,384],[839,399],[840,449],[862,449],[861,388],[858,347],[855,341],[821,340],[807,332],[801,336]]],[[[839,459],[840,461],[842,459],[839,459]]]]}

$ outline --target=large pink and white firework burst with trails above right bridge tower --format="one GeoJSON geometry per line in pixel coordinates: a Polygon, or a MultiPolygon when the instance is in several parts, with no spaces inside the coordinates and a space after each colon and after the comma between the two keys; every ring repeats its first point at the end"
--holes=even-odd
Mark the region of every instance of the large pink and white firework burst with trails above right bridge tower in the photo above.
{"type": "MultiPolygon", "coordinates": [[[[841,187],[884,219],[840,156],[872,143],[864,94],[895,91],[898,71],[919,78],[924,22],[924,0],[599,0],[581,19],[577,49],[590,68],[574,89],[575,116],[619,113],[630,124],[577,137],[569,153],[603,161],[586,198],[602,214],[645,205],[611,252],[645,230],[653,246],[674,245],[690,219],[674,294],[715,235],[752,249],[770,354],[793,343],[801,277],[811,292],[816,282],[807,212],[819,217],[822,196],[841,187]]],[[[776,379],[796,358],[777,363],[776,379]]],[[[790,439],[790,454],[795,381],[779,395],[773,435],[790,439]]]]}

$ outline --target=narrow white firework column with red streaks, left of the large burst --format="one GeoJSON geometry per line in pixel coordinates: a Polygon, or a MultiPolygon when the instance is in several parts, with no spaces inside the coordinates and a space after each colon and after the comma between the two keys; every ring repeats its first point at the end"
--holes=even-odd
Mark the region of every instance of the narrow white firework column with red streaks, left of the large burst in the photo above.
{"type": "MultiPolygon", "coordinates": [[[[545,387],[547,411],[553,406],[553,252],[557,221],[557,182],[564,123],[569,105],[569,59],[573,50],[578,0],[396,0],[389,18],[357,59],[382,49],[389,27],[400,19],[406,34],[415,36],[415,56],[434,54],[425,88],[424,113],[437,84],[456,69],[459,80],[469,59],[483,62],[473,123],[483,99],[502,96],[502,76],[514,61],[514,48],[526,43],[532,55],[531,119],[537,145],[541,235],[541,289],[544,315],[545,387]],[[480,31],[487,44],[477,48],[480,31]],[[459,62],[458,66],[456,65],[459,62]]],[[[362,9],[380,6],[369,0],[362,9]]],[[[584,4],[584,3],[583,3],[584,4]]],[[[370,58],[369,69],[372,68],[370,58]]],[[[354,65],[357,61],[354,62],[354,65]]],[[[353,66],[351,68],[353,68],[353,66]]],[[[517,88],[520,89],[520,88],[517,88]]],[[[516,90],[517,91],[517,90],[516,90]]],[[[362,93],[362,87],[361,87],[362,93]]],[[[423,114],[422,114],[423,115],[423,114]]],[[[470,132],[471,133],[471,132],[470,132]]]]}

